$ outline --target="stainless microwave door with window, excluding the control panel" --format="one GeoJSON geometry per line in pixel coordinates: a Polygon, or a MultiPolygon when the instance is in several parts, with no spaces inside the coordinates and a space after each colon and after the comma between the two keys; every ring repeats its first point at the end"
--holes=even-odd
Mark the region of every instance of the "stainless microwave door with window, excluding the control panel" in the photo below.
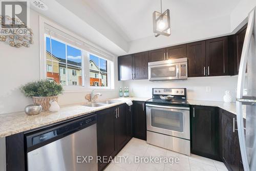
{"type": "Polygon", "coordinates": [[[167,63],[162,65],[148,66],[148,79],[150,81],[179,79],[179,70],[179,63],[167,63]]]}

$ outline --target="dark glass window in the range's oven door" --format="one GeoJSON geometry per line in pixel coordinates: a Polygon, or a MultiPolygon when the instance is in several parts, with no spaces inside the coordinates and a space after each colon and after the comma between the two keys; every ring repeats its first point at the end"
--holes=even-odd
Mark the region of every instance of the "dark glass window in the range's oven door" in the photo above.
{"type": "Polygon", "coordinates": [[[151,125],[160,129],[183,132],[183,113],[151,109],[151,125]]]}

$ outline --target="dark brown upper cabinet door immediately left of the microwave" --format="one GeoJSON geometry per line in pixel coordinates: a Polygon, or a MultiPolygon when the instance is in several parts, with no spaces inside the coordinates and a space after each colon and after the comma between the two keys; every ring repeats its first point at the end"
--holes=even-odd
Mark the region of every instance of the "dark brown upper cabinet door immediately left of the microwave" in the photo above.
{"type": "Polygon", "coordinates": [[[148,52],[134,54],[133,79],[148,79],[148,52]]]}

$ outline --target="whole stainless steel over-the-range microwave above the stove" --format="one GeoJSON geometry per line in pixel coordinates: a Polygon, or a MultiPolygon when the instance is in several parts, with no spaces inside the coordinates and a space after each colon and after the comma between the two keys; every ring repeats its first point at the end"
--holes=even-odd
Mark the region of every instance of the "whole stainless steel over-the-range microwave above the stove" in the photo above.
{"type": "Polygon", "coordinates": [[[148,79],[150,81],[187,79],[187,58],[148,62],[148,79]]]}

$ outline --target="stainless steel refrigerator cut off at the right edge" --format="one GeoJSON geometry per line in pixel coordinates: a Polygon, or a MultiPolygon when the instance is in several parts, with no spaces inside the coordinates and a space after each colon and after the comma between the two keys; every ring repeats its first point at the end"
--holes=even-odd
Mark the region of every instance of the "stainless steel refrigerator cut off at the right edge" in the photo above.
{"type": "Polygon", "coordinates": [[[256,170],[256,10],[249,13],[237,87],[237,124],[245,171],[256,170]],[[247,69],[246,69],[247,68],[247,69]],[[247,70],[247,72],[246,72],[247,70]],[[246,118],[246,130],[243,118],[246,118]]]}

